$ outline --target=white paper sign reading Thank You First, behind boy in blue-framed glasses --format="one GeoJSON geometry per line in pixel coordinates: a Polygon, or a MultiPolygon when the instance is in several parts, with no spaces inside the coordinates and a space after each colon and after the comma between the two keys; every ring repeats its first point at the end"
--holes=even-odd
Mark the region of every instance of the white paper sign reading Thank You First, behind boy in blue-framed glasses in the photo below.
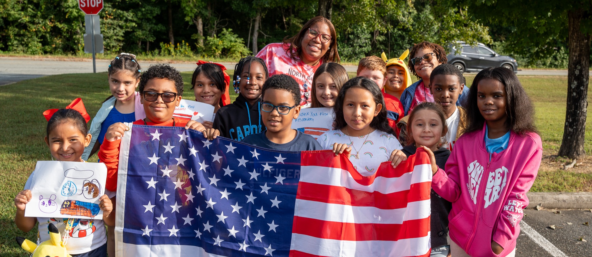
{"type": "Polygon", "coordinates": [[[333,129],[333,118],[333,108],[330,107],[300,109],[300,115],[292,121],[292,128],[316,139],[333,129]]]}

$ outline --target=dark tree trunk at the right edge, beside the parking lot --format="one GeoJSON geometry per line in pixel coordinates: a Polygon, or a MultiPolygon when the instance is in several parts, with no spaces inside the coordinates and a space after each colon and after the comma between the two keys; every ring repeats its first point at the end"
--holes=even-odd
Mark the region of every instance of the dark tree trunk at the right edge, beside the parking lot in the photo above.
{"type": "Polygon", "coordinates": [[[569,64],[567,72],[567,108],[565,127],[559,156],[578,158],[585,155],[584,134],[588,108],[588,69],[590,68],[590,34],[584,34],[580,25],[588,12],[574,8],[568,12],[569,64]]]}

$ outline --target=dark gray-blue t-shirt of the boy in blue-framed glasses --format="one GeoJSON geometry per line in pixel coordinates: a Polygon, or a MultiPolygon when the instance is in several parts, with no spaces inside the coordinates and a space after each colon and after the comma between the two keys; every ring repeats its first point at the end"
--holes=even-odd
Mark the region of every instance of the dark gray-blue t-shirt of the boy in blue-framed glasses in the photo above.
{"type": "Polygon", "coordinates": [[[276,144],[274,142],[269,141],[269,139],[267,139],[267,136],[265,136],[265,132],[267,131],[263,131],[258,134],[248,135],[240,142],[249,145],[255,145],[257,147],[287,152],[323,150],[323,148],[321,148],[321,145],[318,144],[317,139],[314,139],[310,135],[303,134],[298,130],[296,131],[295,138],[292,139],[292,141],[287,142],[286,144],[276,144]]]}

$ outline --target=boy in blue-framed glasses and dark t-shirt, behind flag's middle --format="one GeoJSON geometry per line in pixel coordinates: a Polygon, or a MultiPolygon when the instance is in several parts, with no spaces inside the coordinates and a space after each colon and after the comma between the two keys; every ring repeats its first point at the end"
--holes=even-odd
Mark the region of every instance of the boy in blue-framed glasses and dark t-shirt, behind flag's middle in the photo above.
{"type": "Polygon", "coordinates": [[[292,129],[292,120],[300,114],[300,86],[291,76],[277,74],[270,77],[262,90],[261,117],[265,131],[252,134],[241,142],[258,147],[289,151],[322,150],[312,136],[292,129]]]}

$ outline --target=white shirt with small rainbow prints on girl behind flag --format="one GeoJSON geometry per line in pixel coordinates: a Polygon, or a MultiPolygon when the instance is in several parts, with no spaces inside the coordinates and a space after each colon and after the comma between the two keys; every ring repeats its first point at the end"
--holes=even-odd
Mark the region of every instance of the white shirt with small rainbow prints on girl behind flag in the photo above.
{"type": "Polygon", "coordinates": [[[366,138],[366,135],[350,137],[337,129],[318,136],[317,141],[323,149],[333,149],[334,143],[347,144],[352,147],[349,160],[352,162],[353,167],[363,176],[376,173],[381,162],[388,161],[388,158],[391,157],[392,151],[403,149],[394,135],[378,129],[372,131],[368,138],[366,138]],[[356,159],[358,151],[359,159],[356,159]]]}

